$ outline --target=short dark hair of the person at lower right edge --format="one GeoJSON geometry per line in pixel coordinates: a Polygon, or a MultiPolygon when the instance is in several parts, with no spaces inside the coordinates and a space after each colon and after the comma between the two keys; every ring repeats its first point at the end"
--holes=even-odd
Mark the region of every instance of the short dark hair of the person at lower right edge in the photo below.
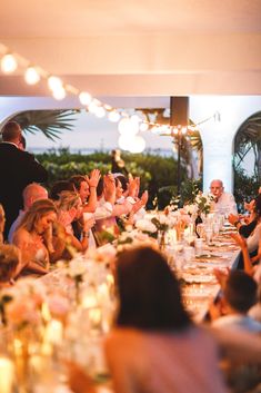
{"type": "Polygon", "coordinates": [[[224,287],[224,298],[235,311],[247,313],[257,303],[258,284],[243,271],[232,271],[224,287]]]}

